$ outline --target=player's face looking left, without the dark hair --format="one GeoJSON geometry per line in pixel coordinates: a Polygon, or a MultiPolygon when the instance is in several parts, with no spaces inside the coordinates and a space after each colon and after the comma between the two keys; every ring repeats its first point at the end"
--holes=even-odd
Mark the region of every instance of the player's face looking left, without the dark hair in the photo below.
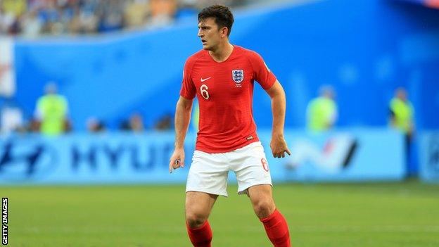
{"type": "Polygon", "coordinates": [[[213,51],[217,49],[218,44],[224,38],[224,29],[227,32],[227,28],[218,28],[215,23],[215,18],[206,18],[198,23],[198,37],[201,39],[203,49],[213,51]]]}

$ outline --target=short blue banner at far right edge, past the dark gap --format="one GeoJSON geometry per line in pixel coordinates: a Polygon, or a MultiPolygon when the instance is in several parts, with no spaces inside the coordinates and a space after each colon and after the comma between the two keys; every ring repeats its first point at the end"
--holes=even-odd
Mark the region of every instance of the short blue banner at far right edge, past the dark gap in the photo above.
{"type": "Polygon", "coordinates": [[[422,181],[439,182],[439,132],[421,134],[419,162],[422,181]]]}

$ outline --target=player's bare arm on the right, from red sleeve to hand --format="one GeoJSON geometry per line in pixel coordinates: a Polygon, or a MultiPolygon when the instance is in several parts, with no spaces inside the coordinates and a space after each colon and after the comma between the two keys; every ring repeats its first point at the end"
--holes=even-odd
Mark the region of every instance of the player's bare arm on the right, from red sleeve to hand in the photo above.
{"type": "Polygon", "coordinates": [[[284,137],[284,124],[285,124],[285,110],[286,110],[286,97],[285,91],[279,81],[276,80],[272,87],[266,90],[267,94],[272,99],[272,113],[273,113],[273,129],[272,129],[272,141],[270,142],[270,148],[272,148],[272,154],[274,158],[285,157],[285,153],[291,155],[290,150],[284,137]]]}

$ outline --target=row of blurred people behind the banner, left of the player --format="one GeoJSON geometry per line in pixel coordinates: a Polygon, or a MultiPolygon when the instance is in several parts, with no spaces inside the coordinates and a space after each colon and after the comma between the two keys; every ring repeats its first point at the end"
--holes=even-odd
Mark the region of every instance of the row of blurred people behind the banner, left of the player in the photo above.
{"type": "MultiPolygon", "coordinates": [[[[68,99],[58,93],[55,82],[49,82],[44,88],[44,94],[35,103],[32,116],[25,116],[23,109],[13,98],[0,97],[0,133],[41,133],[57,136],[75,130],[70,122],[68,99]],[[28,117],[28,118],[27,118],[28,117]]],[[[84,122],[87,132],[99,133],[107,131],[146,132],[166,131],[173,128],[173,115],[163,113],[155,119],[151,126],[144,123],[144,115],[134,112],[127,119],[121,119],[117,127],[108,127],[106,122],[96,117],[90,117],[84,122]]]]}

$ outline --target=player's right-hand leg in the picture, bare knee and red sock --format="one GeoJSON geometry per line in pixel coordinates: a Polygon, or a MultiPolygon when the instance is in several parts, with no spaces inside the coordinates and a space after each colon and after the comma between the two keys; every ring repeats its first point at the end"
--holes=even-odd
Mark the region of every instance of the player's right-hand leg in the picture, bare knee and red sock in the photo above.
{"type": "Polygon", "coordinates": [[[269,184],[255,185],[248,188],[248,196],[253,210],[264,224],[265,232],[275,247],[290,247],[288,224],[283,215],[276,209],[272,197],[272,186],[269,184]]]}

